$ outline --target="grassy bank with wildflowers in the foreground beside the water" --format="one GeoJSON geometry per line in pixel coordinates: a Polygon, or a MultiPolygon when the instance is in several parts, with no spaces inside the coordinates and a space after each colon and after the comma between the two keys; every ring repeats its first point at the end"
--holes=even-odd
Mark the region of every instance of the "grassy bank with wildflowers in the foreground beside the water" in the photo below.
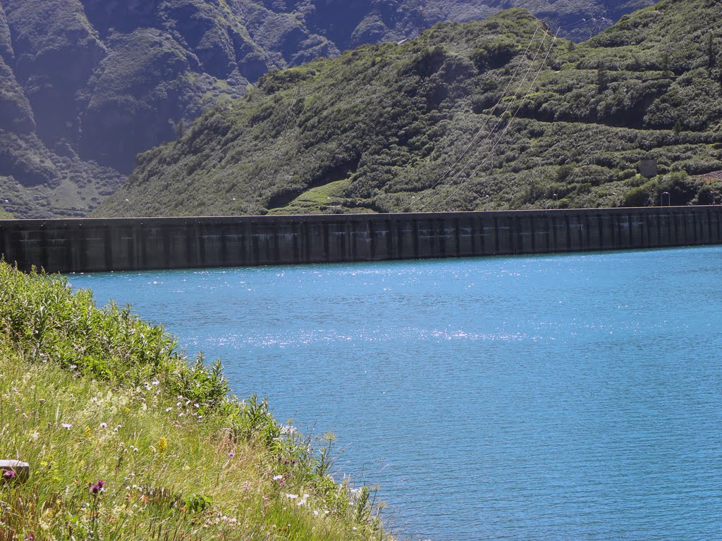
{"type": "Polygon", "coordinates": [[[223,397],[219,371],[186,364],[161,329],[4,263],[0,312],[0,449],[32,467],[0,480],[3,539],[384,537],[323,449],[265,403],[223,397]]]}

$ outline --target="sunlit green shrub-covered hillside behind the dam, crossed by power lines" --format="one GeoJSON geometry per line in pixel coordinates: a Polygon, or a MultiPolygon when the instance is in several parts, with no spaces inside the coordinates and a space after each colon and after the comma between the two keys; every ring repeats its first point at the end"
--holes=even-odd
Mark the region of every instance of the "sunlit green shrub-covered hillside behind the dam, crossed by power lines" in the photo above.
{"type": "Polygon", "coordinates": [[[512,9],[274,72],[97,214],[705,202],[718,183],[688,175],[722,169],[721,26],[716,1],[664,0],[575,45],[512,9]]]}

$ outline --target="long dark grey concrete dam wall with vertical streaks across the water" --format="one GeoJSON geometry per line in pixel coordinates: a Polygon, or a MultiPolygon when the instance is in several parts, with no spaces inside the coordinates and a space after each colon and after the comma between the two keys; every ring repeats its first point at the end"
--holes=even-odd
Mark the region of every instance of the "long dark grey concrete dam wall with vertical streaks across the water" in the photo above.
{"type": "Polygon", "coordinates": [[[722,206],[203,218],[0,220],[27,270],[134,271],[722,243],[722,206]]]}

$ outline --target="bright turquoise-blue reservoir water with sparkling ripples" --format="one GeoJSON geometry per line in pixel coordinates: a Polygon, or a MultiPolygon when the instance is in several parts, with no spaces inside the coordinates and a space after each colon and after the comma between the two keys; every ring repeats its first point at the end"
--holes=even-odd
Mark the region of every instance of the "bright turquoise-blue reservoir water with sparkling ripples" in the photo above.
{"type": "Polygon", "coordinates": [[[73,275],[414,540],[722,539],[722,247],[73,275]]]}

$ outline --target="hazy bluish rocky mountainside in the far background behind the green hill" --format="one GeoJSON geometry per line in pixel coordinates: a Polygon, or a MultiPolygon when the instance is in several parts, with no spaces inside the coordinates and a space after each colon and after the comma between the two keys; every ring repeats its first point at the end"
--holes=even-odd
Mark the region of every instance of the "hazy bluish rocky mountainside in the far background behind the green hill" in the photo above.
{"type": "Polygon", "coordinates": [[[0,0],[0,207],[87,214],[271,69],[512,4],[586,38],[651,0],[0,0]]]}

